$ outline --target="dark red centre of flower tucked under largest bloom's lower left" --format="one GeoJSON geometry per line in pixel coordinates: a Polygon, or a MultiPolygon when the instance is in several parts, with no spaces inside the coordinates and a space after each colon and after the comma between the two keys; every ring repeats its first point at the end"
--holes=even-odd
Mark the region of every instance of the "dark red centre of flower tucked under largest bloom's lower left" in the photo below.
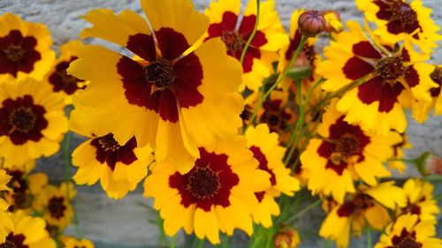
{"type": "Polygon", "coordinates": [[[121,146],[117,140],[113,138],[113,134],[109,133],[105,136],[92,139],[90,145],[96,148],[95,159],[98,162],[106,162],[111,170],[115,169],[117,162],[130,165],[137,160],[133,149],[137,147],[137,141],[133,137],[121,146]]]}

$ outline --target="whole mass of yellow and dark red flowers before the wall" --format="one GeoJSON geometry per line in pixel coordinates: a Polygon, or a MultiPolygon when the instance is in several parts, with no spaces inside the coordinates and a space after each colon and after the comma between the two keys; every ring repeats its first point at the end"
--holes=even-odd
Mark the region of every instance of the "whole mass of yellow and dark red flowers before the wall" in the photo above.
{"type": "Polygon", "coordinates": [[[285,28],[278,1],[243,2],[91,10],[57,58],[47,27],[0,17],[0,248],[95,247],[76,184],[98,182],[142,188],[156,247],[294,248],[313,211],[338,248],[442,247],[442,165],[404,150],[410,118],[442,113],[431,9],[355,0],[364,25],[300,8],[285,28]],[[62,182],[36,171],[59,150],[62,182]]]}

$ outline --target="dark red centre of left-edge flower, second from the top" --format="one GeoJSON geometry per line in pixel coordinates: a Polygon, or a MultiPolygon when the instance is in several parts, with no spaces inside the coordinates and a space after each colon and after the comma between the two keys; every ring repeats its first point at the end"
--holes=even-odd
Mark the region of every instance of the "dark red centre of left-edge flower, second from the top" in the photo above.
{"type": "Polygon", "coordinates": [[[32,140],[42,139],[42,130],[48,126],[44,117],[46,109],[34,104],[31,95],[25,94],[13,100],[8,98],[0,108],[0,135],[9,136],[12,144],[23,145],[32,140]]]}

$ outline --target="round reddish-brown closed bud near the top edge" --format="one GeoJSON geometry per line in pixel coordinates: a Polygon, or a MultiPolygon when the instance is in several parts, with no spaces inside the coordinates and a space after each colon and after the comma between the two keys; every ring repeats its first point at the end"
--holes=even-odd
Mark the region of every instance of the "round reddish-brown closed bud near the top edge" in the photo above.
{"type": "Polygon", "coordinates": [[[307,37],[315,37],[324,31],[324,15],[319,11],[305,11],[298,19],[298,28],[301,34],[307,37]]]}

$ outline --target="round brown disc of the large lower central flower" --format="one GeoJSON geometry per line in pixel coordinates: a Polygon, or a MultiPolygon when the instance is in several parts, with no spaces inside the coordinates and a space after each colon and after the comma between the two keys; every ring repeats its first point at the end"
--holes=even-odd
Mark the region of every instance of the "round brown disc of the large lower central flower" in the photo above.
{"type": "Polygon", "coordinates": [[[195,168],[189,173],[190,175],[187,177],[187,190],[196,199],[209,199],[221,187],[219,177],[209,168],[195,168]]]}

